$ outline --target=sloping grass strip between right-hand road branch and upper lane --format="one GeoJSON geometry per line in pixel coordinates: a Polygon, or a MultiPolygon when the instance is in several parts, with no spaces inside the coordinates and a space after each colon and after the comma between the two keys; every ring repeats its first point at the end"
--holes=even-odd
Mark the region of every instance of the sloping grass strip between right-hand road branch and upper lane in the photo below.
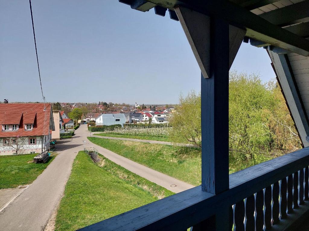
{"type": "Polygon", "coordinates": [[[130,160],[193,185],[201,184],[201,149],[88,137],[130,160]]]}

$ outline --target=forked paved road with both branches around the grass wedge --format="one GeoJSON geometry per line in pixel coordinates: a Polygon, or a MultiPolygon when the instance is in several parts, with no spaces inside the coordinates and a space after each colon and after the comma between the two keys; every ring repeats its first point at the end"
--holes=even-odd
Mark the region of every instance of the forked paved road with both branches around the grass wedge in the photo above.
{"type": "Polygon", "coordinates": [[[86,148],[95,147],[100,154],[116,164],[172,192],[178,193],[194,187],[93,144],[87,139],[89,135],[87,125],[84,124],[75,131],[73,139],[58,142],[56,152],[59,155],[19,197],[0,212],[0,230],[44,230],[53,210],[62,198],[74,158],[78,151],[83,150],[84,140],[86,148]]]}

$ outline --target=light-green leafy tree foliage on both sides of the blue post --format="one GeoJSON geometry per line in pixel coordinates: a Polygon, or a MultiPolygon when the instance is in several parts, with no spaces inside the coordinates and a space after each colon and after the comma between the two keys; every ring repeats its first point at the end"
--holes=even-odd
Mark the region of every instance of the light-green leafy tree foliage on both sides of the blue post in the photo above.
{"type": "MultiPolygon", "coordinates": [[[[201,146],[201,95],[180,94],[171,115],[170,138],[201,146]]],[[[259,75],[230,72],[229,149],[230,158],[256,164],[263,153],[294,151],[301,147],[294,122],[276,81],[263,83],[259,75]]]]}

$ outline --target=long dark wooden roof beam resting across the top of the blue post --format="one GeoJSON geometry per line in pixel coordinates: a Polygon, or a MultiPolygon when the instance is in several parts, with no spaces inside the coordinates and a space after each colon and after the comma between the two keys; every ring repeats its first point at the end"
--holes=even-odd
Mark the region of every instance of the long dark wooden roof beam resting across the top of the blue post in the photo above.
{"type": "MultiPolygon", "coordinates": [[[[246,36],[267,44],[308,56],[309,41],[293,34],[259,15],[229,1],[192,1],[192,0],[149,0],[150,2],[172,9],[176,5],[184,6],[202,14],[214,15],[227,20],[231,25],[246,29],[246,36]]],[[[296,5],[296,4],[294,4],[296,5]]]]}

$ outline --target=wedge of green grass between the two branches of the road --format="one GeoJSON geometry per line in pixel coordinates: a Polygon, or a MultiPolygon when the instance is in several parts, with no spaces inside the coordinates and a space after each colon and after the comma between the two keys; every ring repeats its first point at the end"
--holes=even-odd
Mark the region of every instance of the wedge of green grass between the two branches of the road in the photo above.
{"type": "Polygon", "coordinates": [[[95,164],[85,152],[76,156],[55,230],[76,230],[173,193],[105,159],[95,164]]]}

